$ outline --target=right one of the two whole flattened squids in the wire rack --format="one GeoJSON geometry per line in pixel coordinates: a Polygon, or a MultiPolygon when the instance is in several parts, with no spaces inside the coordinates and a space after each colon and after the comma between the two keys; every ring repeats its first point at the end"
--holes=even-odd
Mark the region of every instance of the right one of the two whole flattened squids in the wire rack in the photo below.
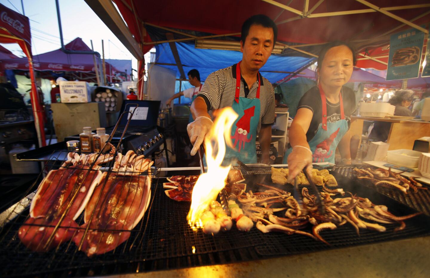
{"type": "Polygon", "coordinates": [[[149,205],[153,163],[129,151],[117,157],[111,173],[103,173],[73,238],[87,256],[112,251],[129,238],[149,205]]]}

